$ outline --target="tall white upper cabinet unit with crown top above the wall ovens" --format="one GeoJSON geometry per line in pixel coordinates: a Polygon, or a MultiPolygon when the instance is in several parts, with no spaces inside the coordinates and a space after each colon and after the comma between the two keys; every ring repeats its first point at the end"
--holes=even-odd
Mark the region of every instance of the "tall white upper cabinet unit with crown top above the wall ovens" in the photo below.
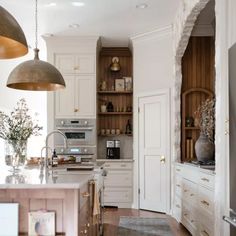
{"type": "Polygon", "coordinates": [[[47,93],[48,132],[56,118],[96,118],[96,59],[99,37],[44,37],[47,60],[62,73],[66,88],[47,93]]]}

